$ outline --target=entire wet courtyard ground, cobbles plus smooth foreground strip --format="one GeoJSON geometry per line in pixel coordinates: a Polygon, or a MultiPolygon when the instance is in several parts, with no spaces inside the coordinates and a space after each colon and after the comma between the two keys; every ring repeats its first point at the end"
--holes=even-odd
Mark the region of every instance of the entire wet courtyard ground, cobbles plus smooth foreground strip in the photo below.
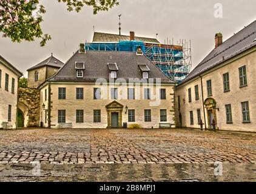
{"type": "Polygon", "coordinates": [[[255,140],[183,129],[0,130],[0,181],[256,181],[255,140]]]}

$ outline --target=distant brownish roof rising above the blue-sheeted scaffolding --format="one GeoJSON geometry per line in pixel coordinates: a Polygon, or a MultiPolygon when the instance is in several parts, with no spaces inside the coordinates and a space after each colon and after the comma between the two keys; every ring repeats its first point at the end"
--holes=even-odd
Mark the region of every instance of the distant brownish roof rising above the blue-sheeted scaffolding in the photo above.
{"type": "MultiPolygon", "coordinates": [[[[130,36],[125,35],[115,35],[109,33],[95,32],[93,35],[93,42],[119,42],[119,41],[130,41],[130,36]]],[[[160,44],[160,42],[155,38],[144,38],[136,37],[135,41],[143,41],[147,43],[160,44]]]]}

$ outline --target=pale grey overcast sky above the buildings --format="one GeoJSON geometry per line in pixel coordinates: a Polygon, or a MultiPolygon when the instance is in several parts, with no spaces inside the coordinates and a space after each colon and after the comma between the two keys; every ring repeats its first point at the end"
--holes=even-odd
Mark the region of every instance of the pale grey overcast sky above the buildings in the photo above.
{"type": "Polygon", "coordinates": [[[47,10],[42,29],[52,36],[45,47],[39,41],[19,44],[0,36],[0,55],[24,75],[50,53],[66,62],[79,43],[92,41],[93,25],[96,32],[118,33],[120,14],[124,35],[134,31],[135,36],[155,38],[158,33],[162,43],[167,38],[191,40],[193,67],[214,49],[215,33],[223,33],[225,40],[256,19],[255,0],[120,0],[120,5],[98,15],[88,7],[70,13],[57,0],[41,0],[41,4],[47,10]],[[214,16],[216,3],[223,5],[223,18],[214,16]]]}

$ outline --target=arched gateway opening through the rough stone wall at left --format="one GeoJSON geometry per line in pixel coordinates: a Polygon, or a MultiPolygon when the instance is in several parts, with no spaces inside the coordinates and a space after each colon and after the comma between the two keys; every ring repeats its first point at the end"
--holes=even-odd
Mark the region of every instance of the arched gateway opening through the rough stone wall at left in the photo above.
{"type": "Polygon", "coordinates": [[[23,102],[18,102],[18,127],[27,127],[29,124],[29,107],[23,102]]]}

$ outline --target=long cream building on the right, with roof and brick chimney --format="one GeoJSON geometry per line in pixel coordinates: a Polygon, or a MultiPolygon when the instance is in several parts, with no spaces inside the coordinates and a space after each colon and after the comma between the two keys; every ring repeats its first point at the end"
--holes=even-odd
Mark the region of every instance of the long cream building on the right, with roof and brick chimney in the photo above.
{"type": "Polygon", "coordinates": [[[256,132],[256,21],[223,42],[175,90],[178,127],[256,132]]]}

